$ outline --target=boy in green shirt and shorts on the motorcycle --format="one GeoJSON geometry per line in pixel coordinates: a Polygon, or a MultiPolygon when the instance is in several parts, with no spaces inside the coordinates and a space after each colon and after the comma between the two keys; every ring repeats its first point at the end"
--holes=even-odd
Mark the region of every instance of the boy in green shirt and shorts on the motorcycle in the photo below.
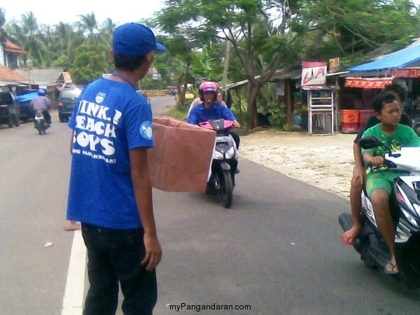
{"type": "MultiPolygon", "coordinates": [[[[365,165],[380,166],[384,165],[383,155],[386,153],[386,147],[391,148],[392,151],[398,151],[402,146],[420,146],[420,140],[412,128],[400,125],[401,111],[395,94],[381,92],[373,102],[375,115],[381,120],[381,123],[366,130],[363,137],[376,136],[381,139],[384,146],[363,149],[362,155],[365,165]]],[[[367,169],[365,183],[377,225],[391,253],[391,260],[385,267],[385,272],[388,274],[398,273],[394,251],[395,228],[389,209],[389,196],[393,191],[394,179],[401,174],[403,172],[387,167],[381,167],[374,171],[367,169]]]]}

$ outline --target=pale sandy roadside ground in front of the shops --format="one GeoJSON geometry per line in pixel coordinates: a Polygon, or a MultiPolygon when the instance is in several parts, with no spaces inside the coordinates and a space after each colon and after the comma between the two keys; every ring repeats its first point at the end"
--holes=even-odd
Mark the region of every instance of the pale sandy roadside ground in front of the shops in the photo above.
{"type": "Polygon", "coordinates": [[[241,137],[239,158],[348,199],[355,137],[265,130],[241,137]]]}

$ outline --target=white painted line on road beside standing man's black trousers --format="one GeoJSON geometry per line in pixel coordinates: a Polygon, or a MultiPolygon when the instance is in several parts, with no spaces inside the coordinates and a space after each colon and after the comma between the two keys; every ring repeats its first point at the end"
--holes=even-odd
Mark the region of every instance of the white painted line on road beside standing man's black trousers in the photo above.
{"type": "Polygon", "coordinates": [[[74,231],[71,246],[69,271],[63,298],[62,315],[83,314],[83,295],[85,288],[86,247],[82,232],[74,231]]]}

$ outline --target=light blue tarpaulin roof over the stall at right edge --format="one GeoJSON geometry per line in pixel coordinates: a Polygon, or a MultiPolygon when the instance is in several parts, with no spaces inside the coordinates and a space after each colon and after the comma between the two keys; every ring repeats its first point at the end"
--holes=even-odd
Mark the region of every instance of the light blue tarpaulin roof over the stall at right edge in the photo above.
{"type": "Polygon", "coordinates": [[[392,54],[386,55],[381,59],[366,64],[359,64],[349,68],[350,72],[382,71],[389,69],[400,69],[420,60],[420,45],[414,45],[392,54]]]}

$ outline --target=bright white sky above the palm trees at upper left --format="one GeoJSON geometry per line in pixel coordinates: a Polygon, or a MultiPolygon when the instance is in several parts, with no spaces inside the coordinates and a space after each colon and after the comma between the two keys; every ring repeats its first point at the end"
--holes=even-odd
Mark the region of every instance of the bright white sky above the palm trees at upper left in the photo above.
{"type": "Polygon", "coordinates": [[[80,21],[78,15],[94,13],[99,25],[111,18],[116,25],[125,22],[137,22],[151,18],[156,10],[162,8],[164,0],[116,0],[116,1],[2,1],[0,8],[6,13],[6,22],[20,20],[22,14],[32,11],[38,24],[55,25],[59,22],[73,23],[80,21]]]}

